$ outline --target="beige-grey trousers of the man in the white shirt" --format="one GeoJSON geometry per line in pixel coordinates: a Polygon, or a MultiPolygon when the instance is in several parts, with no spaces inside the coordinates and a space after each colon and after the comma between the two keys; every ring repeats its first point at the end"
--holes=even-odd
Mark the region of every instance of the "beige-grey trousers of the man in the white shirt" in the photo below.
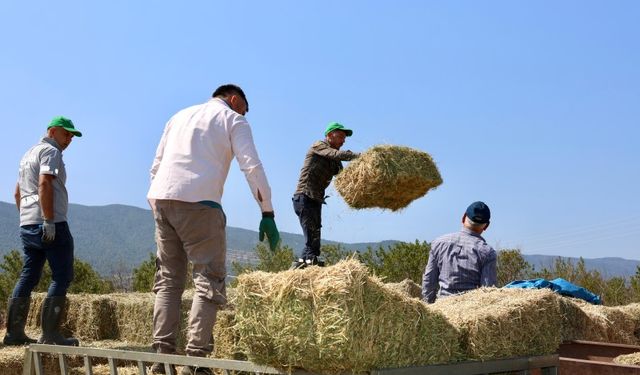
{"type": "Polygon", "coordinates": [[[153,347],[175,353],[180,304],[188,262],[193,263],[195,293],[189,313],[187,346],[191,356],[213,351],[212,332],[218,307],[226,303],[226,218],[222,210],[173,200],[149,202],[158,247],[153,292],[153,347]]]}

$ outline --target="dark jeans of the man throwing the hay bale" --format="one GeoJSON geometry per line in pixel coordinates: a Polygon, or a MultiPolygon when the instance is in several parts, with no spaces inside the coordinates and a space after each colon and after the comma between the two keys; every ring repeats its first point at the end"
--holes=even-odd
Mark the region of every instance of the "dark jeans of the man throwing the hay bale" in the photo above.
{"type": "Polygon", "coordinates": [[[292,198],[293,210],[300,219],[305,246],[302,259],[312,259],[320,255],[320,227],[322,203],[313,200],[305,194],[296,194],[292,198]]]}

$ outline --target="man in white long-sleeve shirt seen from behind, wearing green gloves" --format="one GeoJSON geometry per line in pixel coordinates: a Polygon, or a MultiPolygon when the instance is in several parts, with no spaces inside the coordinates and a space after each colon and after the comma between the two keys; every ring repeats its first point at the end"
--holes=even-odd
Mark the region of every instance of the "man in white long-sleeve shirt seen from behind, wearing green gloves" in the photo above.
{"type": "MultiPolygon", "coordinates": [[[[147,195],[158,247],[153,287],[153,347],[157,352],[176,352],[188,262],[193,263],[195,294],[185,352],[201,357],[213,349],[211,334],[218,306],[226,303],[226,218],[220,203],[233,157],[262,211],[260,240],[266,235],[272,250],[278,244],[271,188],[244,117],[248,110],[242,89],[224,85],[206,103],[175,114],[164,129],[147,195]]],[[[162,366],[152,370],[164,372],[162,366]]],[[[210,372],[185,367],[183,373],[210,372]]]]}

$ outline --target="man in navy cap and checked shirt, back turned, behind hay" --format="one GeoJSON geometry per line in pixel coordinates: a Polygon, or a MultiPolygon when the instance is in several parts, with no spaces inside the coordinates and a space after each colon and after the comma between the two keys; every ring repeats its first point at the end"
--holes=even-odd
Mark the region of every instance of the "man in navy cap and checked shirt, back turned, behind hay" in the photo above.
{"type": "Polygon", "coordinates": [[[491,211],[484,202],[473,202],[462,216],[460,232],[431,243],[422,276],[422,297],[427,303],[435,302],[436,294],[446,297],[496,284],[496,251],[481,236],[490,218],[491,211]]]}

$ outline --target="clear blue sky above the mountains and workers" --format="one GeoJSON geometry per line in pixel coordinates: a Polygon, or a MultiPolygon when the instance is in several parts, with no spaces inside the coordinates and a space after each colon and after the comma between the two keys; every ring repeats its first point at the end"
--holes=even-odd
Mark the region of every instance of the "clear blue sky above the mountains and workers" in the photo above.
{"type": "MultiPolygon", "coordinates": [[[[72,203],[147,208],[164,124],[220,84],[247,119],[280,230],[309,145],[430,153],[444,183],[398,213],[349,209],[333,188],[323,238],[431,241],[483,200],[486,239],[527,254],[640,259],[640,3],[635,1],[73,1],[0,5],[0,200],[49,120],[72,203]]],[[[223,206],[257,229],[234,162],[223,206]]],[[[73,227],[73,223],[70,223],[73,227]]]]}

